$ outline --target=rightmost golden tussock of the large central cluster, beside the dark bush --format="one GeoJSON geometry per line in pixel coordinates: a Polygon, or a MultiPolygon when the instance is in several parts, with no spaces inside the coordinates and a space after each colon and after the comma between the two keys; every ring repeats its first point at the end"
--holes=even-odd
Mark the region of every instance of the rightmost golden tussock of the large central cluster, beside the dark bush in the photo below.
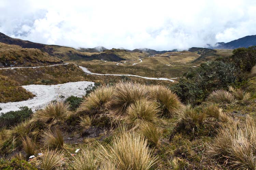
{"type": "Polygon", "coordinates": [[[181,109],[182,104],[179,97],[169,88],[155,85],[150,86],[149,90],[152,98],[159,103],[163,116],[171,117],[181,109]]]}

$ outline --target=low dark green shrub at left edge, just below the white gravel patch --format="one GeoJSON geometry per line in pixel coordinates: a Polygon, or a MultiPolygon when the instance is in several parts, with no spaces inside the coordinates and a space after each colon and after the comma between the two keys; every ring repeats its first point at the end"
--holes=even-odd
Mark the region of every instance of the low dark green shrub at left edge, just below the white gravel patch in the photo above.
{"type": "Polygon", "coordinates": [[[20,107],[20,111],[10,111],[7,113],[2,113],[0,115],[0,129],[4,126],[10,127],[14,126],[26,119],[28,119],[33,114],[31,108],[20,107]]]}

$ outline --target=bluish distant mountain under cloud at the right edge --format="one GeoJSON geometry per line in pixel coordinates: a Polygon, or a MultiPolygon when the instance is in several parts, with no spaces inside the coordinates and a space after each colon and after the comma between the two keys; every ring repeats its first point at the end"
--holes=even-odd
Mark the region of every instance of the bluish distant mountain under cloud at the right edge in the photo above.
{"type": "Polygon", "coordinates": [[[216,43],[216,49],[236,49],[241,47],[251,47],[256,46],[256,35],[249,35],[245,36],[243,38],[239,38],[233,41],[230,41],[229,43],[216,43]]]}

